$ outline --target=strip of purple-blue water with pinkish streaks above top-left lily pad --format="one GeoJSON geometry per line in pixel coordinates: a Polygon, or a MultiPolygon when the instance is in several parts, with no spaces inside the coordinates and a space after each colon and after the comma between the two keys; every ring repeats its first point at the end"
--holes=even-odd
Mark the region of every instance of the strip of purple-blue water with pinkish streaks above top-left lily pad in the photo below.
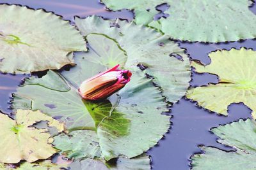
{"type": "Polygon", "coordinates": [[[47,11],[63,16],[67,20],[73,20],[75,15],[86,17],[88,15],[101,15],[106,18],[126,18],[132,19],[133,15],[127,10],[117,11],[115,13],[105,10],[104,4],[96,0],[1,0],[0,3],[22,4],[31,8],[43,8],[47,11]]]}

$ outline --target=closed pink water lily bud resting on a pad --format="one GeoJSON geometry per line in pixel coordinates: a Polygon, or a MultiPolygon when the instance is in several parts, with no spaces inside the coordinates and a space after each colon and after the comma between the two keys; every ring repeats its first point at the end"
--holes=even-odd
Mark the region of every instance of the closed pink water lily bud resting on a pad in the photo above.
{"type": "Polygon", "coordinates": [[[86,100],[106,99],[122,89],[131,80],[129,70],[118,69],[119,64],[102,73],[83,81],[79,87],[79,94],[86,100]]]}

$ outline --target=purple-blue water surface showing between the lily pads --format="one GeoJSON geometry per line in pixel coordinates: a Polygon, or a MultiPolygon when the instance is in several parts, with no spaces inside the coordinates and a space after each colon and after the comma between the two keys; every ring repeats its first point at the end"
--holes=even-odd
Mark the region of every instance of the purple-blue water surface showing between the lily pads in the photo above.
{"type": "MultiPolygon", "coordinates": [[[[65,19],[72,20],[72,16],[79,15],[86,17],[88,15],[102,15],[106,18],[126,18],[131,20],[132,13],[126,10],[118,12],[110,12],[104,10],[104,5],[97,3],[96,0],[0,0],[0,3],[14,3],[28,5],[31,8],[44,8],[47,11],[54,11],[58,15],[63,15],[65,19]]],[[[164,17],[164,6],[159,6],[158,17],[164,17]]],[[[256,7],[250,8],[254,13],[256,7]]],[[[157,17],[156,16],[156,17],[157,17]]],[[[218,50],[230,48],[253,48],[256,50],[256,43],[253,40],[246,40],[235,43],[180,43],[182,48],[186,48],[191,59],[197,59],[204,64],[209,64],[211,60],[208,53],[218,50]]],[[[10,94],[15,92],[24,75],[0,74],[0,110],[4,113],[10,113],[8,104],[10,94]]],[[[193,73],[193,81],[191,86],[207,85],[207,83],[217,83],[218,78],[211,74],[193,73]]],[[[172,129],[165,135],[165,138],[159,141],[159,145],[148,151],[152,156],[152,168],[156,170],[189,169],[189,157],[193,153],[200,152],[198,145],[216,146],[223,150],[232,150],[223,145],[216,143],[216,136],[209,132],[211,127],[220,124],[226,124],[238,120],[239,118],[248,118],[251,110],[243,104],[231,104],[228,107],[228,117],[218,116],[216,113],[210,113],[202,108],[198,108],[195,103],[182,98],[179,103],[174,104],[172,108],[172,129]]]]}

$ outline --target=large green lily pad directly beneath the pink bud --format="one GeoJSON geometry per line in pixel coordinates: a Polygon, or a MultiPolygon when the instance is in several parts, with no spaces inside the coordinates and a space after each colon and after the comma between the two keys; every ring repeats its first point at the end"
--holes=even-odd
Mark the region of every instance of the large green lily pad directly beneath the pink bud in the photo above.
{"type": "MultiPolygon", "coordinates": [[[[113,40],[111,43],[113,44],[109,44],[110,46],[116,45],[113,40]]],[[[140,69],[134,68],[131,81],[118,92],[118,95],[114,94],[109,101],[102,103],[84,101],[77,92],[77,87],[82,81],[111,65],[113,60],[108,53],[101,56],[106,58],[100,59],[99,53],[90,48],[88,53],[77,53],[77,66],[70,71],[63,71],[61,74],[48,71],[42,78],[26,79],[24,85],[13,95],[12,107],[42,110],[54,118],[65,121],[69,131],[80,129],[95,132],[106,160],[119,155],[129,158],[141,155],[156,145],[170,127],[170,117],[161,114],[168,111],[164,97],[159,89],[154,87],[151,79],[148,79],[140,69]],[[92,57],[99,59],[91,60],[92,57]],[[106,62],[108,59],[109,62],[106,62]],[[101,62],[102,60],[105,62],[101,62]]],[[[92,136],[89,138],[92,139],[92,136]]],[[[77,148],[79,147],[81,148],[77,143],[77,148]]],[[[73,148],[72,150],[76,152],[73,148]]],[[[91,150],[77,154],[86,157],[91,154],[91,150]]]]}

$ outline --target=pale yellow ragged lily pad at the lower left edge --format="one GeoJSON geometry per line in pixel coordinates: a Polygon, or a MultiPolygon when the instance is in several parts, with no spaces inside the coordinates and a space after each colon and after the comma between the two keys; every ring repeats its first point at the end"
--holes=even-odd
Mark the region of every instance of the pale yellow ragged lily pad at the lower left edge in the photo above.
{"type": "Polygon", "coordinates": [[[49,125],[62,129],[63,124],[40,111],[17,110],[15,120],[0,114],[0,162],[18,163],[20,160],[34,162],[47,159],[57,151],[52,148],[51,135],[45,129],[36,129],[31,125],[42,120],[49,121],[49,125]]]}

